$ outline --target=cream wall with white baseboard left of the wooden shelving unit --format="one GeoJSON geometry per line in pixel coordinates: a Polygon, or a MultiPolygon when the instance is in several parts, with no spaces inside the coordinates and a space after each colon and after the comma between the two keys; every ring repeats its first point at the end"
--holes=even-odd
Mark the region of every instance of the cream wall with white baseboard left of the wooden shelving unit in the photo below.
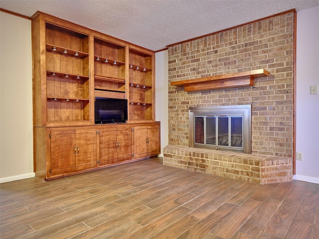
{"type": "Polygon", "coordinates": [[[0,183],[34,177],[31,21],[0,12],[0,183]]]}

